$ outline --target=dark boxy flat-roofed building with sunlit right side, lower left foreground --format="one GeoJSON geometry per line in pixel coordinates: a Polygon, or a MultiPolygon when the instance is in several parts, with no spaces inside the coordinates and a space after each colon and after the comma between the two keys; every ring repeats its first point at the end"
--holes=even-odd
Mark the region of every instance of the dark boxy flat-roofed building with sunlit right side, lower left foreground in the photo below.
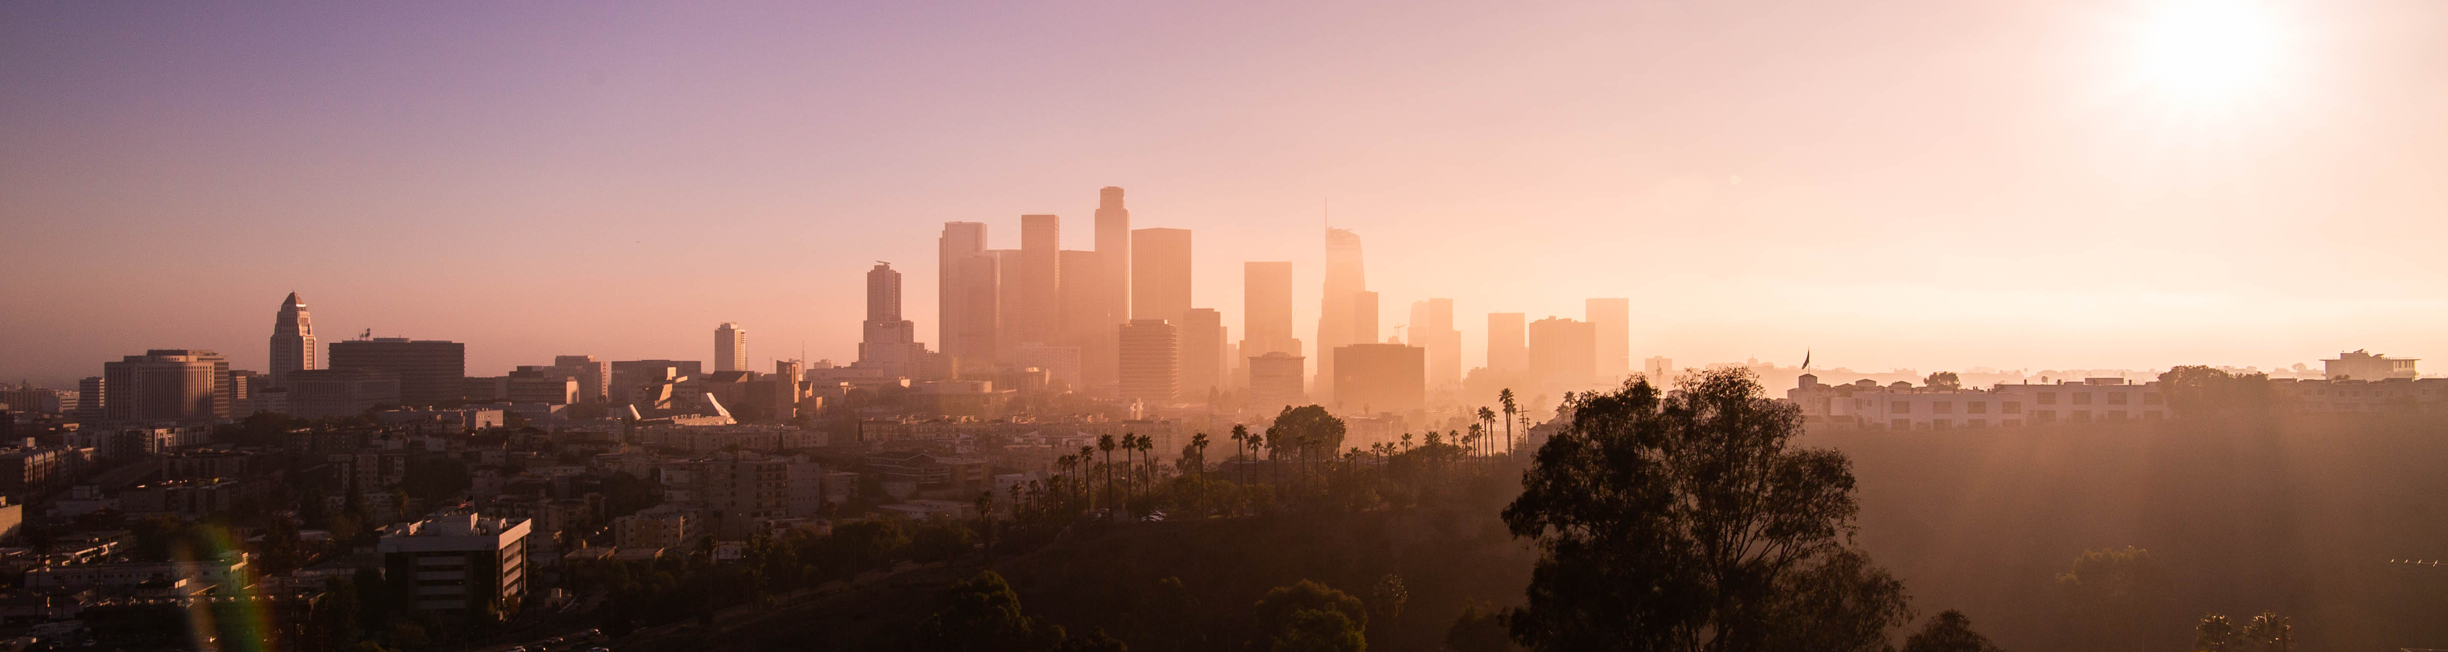
{"type": "Polygon", "coordinates": [[[443,512],[382,527],[375,552],[382,554],[384,576],[431,576],[416,583],[409,608],[477,615],[517,605],[526,596],[526,534],[529,522],[519,517],[443,512]]]}

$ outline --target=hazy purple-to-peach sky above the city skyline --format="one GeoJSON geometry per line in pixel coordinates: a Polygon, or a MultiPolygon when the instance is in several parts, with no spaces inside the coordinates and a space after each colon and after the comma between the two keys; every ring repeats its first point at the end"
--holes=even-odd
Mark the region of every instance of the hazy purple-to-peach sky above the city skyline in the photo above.
{"type": "MultiPolygon", "coordinates": [[[[0,377],[326,341],[854,358],[935,235],[1097,186],[1197,304],[1322,203],[1383,324],[1454,297],[1633,355],[2448,365],[2448,2],[5,2],[0,377]]],[[[1390,333],[1393,328],[1388,328],[1390,333]]]]}

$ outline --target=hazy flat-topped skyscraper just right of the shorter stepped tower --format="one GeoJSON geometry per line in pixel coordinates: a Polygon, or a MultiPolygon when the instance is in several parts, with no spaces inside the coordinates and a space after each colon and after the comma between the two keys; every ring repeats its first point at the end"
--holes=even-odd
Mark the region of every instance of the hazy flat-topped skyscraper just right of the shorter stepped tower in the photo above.
{"type": "Polygon", "coordinates": [[[1001,321],[999,287],[1001,265],[987,250],[984,223],[942,223],[935,240],[935,304],[940,309],[935,338],[942,353],[962,368],[994,365],[994,336],[1001,321]]]}

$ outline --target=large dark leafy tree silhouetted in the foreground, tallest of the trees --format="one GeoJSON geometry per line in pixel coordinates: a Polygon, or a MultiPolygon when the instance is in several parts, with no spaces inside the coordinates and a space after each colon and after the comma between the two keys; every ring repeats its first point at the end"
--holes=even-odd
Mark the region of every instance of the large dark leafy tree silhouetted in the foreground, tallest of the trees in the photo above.
{"type": "Polygon", "coordinates": [[[1750,370],[1709,370],[1667,397],[1648,380],[1564,404],[1523,495],[1532,650],[1883,650],[1909,618],[1902,583],[1853,547],[1843,453],[1792,449],[1802,414],[1750,370]]]}

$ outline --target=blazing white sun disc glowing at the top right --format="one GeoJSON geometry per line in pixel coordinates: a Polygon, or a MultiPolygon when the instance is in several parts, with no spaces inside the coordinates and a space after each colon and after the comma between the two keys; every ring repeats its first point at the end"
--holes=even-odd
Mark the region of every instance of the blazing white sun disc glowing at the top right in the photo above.
{"type": "Polygon", "coordinates": [[[2279,64],[2279,32],[2260,2],[2169,0],[2140,25],[2137,74],[2166,100],[2237,100],[2267,91],[2279,64]]]}

